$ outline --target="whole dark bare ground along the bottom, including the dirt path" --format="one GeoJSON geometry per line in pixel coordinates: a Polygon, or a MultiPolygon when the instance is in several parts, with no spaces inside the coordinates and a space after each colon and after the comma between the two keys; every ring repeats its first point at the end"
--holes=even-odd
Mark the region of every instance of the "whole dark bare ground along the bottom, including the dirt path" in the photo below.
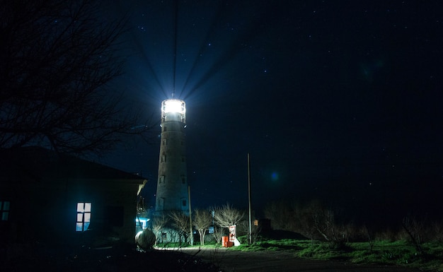
{"type": "Polygon", "coordinates": [[[149,271],[149,272],[387,272],[409,271],[398,266],[355,265],[343,261],[313,261],[295,258],[287,250],[241,252],[231,249],[81,249],[76,254],[62,251],[27,252],[2,260],[1,271],[149,271]],[[5,269],[4,269],[5,268],[5,269]]]}

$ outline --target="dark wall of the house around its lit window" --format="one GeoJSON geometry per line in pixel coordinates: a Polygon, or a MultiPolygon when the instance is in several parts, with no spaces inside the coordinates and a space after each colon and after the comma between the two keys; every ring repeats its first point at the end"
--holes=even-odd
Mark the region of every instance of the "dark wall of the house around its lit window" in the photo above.
{"type": "Polygon", "coordinates": [[[107,246],[134,243],[136,199],[134,181],[47,178],[2,179],[0,199],[11,201],[8,222],[1,222],[5,242],[107,246]],[[91,225],[76,232],[76,206],[91,202],[91,225]]]}

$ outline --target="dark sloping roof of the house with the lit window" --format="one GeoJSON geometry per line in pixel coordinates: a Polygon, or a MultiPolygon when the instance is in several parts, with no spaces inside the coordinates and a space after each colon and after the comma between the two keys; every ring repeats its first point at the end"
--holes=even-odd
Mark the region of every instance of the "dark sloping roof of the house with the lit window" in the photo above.
{"type": "MultiPolygon", "coordinates": [[[[143,184],[144,177],[122,170],[100,165],[72,155],[59,154],[54,150],[38,146],[0,150],[0,169],[10,175],[28,174],[42,177],[69,177],[72,179],[125,180],[125,182],[143,184]]],[[[1,174],[0,174],[1,175],[1,174]]]]}

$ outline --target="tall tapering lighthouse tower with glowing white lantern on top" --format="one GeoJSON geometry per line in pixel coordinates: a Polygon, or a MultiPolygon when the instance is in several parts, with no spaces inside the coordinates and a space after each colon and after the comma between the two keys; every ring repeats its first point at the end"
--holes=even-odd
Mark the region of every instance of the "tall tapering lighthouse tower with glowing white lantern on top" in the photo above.
{"type": "Polygon", "coordinates": [[[188,213],[188,178],[185,158],[185,101],[161,102],[161,143],[157,180],[156,215],[188,213]]]}

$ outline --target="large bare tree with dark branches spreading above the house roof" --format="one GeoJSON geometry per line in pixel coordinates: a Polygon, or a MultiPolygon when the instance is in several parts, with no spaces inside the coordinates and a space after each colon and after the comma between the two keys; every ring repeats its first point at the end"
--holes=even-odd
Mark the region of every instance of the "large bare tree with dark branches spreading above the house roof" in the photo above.
{"type": "Polygon", "coordinates": [[[110,88],[122,21],[93,0],[1,1],[0,17],[0,148],[103,153],[151,131],[110,88]]]}

